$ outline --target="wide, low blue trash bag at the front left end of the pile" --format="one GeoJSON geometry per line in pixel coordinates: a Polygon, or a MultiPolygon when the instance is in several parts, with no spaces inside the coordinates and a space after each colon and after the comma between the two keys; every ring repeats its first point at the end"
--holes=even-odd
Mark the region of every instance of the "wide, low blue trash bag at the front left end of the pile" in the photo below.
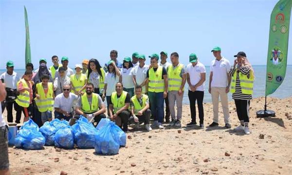
{"type": "Polygon", "coordinates": [[[24,148],[29,150],[42,149],[45,145],[46,139],[36,129],[20,129],[15,138],[14,145],[17,148],[24,148]]]}

